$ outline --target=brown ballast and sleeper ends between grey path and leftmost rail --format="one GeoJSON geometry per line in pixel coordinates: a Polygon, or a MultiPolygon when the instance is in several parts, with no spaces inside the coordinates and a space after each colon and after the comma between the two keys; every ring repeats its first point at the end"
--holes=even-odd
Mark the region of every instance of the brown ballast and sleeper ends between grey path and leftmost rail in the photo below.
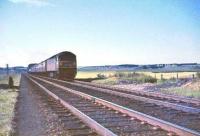
{"type": "MultiPolygon", "coordinates": [[[[24,77],[26,78],[26,77],[24,77]]],[[[26,79],[25,79],[26,80],[26,79]]],[[[41,91],[41,88],[34,84],[33,82],[29,82],[32,91],[35,94],[40,96],[40,100],[42,101],[45,107],[48,107],[44,112],[46,114],[53,113],[57,116],[57,124],[60,124],[62,132],[61,135],[70,135],[70,136],[97,136],[98,134],[93,131],[90,127],[85,125],[79,118],[73,115],[70,110],[66,109],[59,101],[47,95],[45,91],[41,91]],[[50,111],[49,111],[50,110],[50,111]]],[[[30,94],[31,95],[31,94],[30,94]]],[[[52,128],[53,129],[53,128],[52,128]]],[[[52,135],[52,134],[50,134],[52,135]]]]}

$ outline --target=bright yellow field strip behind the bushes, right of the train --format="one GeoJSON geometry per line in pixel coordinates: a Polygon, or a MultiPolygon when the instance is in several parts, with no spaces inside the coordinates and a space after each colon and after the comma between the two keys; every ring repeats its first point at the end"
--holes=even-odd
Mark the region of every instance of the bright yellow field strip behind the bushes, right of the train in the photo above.
{"type": "MultiPolygon", "coordinates": [[[[106,77],[111,77],[115,75],[116,71],[78,71],[76,78],[96,78],[98,74],[105,75],[106,77]]],[[[122,73],[130,73],[130,71],[122,71],[122,73]]],[[[178,78],[188,78],[196,76],[196,72],[169,72],[169,73],[153,73],[153,72],[135,72],[139,74],[145,74],[147,76],[152,76],[156,79],[161,79],[161,75],[163,75],[164,79],[176,78],[178,74],[178,78]]]]}

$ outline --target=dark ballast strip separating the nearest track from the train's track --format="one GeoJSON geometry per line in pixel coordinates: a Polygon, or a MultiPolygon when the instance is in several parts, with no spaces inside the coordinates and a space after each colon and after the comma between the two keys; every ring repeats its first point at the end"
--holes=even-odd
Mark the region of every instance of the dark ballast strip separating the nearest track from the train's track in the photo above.
{"type": "Polygon", "coordinates": [[[156,106],[154,104],[149,104],[141,101],[131,100],[128,98],[99,92],[94,89],[88,89],[80,86],[71,85],[68,83],[61,83],[59,81],[54,81],[50,79],[48,79],[48,81],[53,81],[54,83],[58,83],[73,90],[80,91],[98,98],[102,98],[104,100],[125,106],[127,108],[143,112],[156,118],[160,118],[162,120],[172,122],[174,124],[200,132],[199,114],[181,112],[178,110],[173,110],[162,106],[156,106]]]}

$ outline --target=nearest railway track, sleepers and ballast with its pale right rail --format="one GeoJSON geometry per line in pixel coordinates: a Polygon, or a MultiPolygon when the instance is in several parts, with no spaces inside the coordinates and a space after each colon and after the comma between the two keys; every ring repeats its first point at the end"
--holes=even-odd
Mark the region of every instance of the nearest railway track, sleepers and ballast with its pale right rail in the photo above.
{"type": "MultiPolygon", "coordinates": [[[[66,88],[63,85],[60,85],[60,83],[53,83],[38,77],[32,78],[36,80],[34,81],[33,79],[31,79],[35,83],[39,84],[38,82],[40,82],[40,84],[42,84],[40,87],[43,88],[43,90],[46,89],[47,92],[49,91],[49,94],[52,93],[52,96],[54,96],[57,100],[61,101],[61,103],[67,102],[68,104],[74,106],[82,113],[84,113],[84,115],[89,116],[90,119],[95,120],[95,122],[101,124],[100,126],[103,126],[104,128],[106,127],[106,130],[109,130],[111,134],[200,135],[198,131],[184,128],[160,119],[156,119],[149,115],[134,111],[133,108],[128,109],[126,107],[119,106],[112,102],[108,102],[85,93],[74,91],[72,89],[66,88]],[[85,99],[88,100],[86,101],[85,99]]],[[[103,93],[101,92],[101,94],[103,93]]],[[[110,95],[109,99],[113,99],[111,98],[111,96],[113,95],[110,95]]],[[[152,105],[148,106],[152,107],[152,105]]],[[[94,127],[94,125],[91,125],[90,127],[94,127]]],[[[93,129],[97,131],[96,128],[93,129]]]]}

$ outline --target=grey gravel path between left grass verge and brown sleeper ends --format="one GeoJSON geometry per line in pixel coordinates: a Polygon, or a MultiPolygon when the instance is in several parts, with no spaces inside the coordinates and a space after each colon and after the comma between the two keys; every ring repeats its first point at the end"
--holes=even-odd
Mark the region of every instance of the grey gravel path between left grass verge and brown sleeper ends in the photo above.
{"type": "Polygon", "coordinates": [[[17,136],[59,135],[59,125],[50,109],[34,91],[34,87],[26,77],[22,76],[18,106],[16,108],[17,136]],[[57,126],[57,127],[55,127],[57,126]],[[53,129],[52,129],[53,128],[53,129]]]}

